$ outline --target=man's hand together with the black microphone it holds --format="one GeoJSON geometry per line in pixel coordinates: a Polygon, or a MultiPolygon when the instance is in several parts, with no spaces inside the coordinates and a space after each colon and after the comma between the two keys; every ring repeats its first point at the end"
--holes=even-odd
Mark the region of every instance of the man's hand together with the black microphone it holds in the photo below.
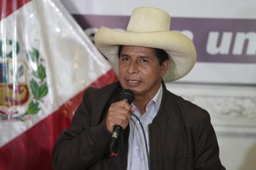
{"type": "Polygon", "coordinates": [[[120,93],[119,100],[116,103],[111,104],[109,107],[108,115],[106,118],[106,125],[109,132],[112,132],[112,136],[109,142],[109,149],[112,156],[116,155],[116,141],[122,129],[125,129],[131,120],[131,113],[134,108],[130,106],[134,99],[134,93],[132,90],[124,89],[120,93]]]}

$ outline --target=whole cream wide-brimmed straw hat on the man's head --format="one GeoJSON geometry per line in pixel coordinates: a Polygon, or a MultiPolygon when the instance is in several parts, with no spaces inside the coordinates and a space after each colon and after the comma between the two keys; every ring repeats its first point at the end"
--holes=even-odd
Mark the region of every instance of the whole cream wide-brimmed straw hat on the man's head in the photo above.
{"type": "Polygon", "coordinates": [[[164,81],[174,81],[191,71],[196,62],[193,42],[184,34],[170,31],[170,15],[157,8],[140,7],[132,11],[127,31],[100,27],[95,34],[95,45],[118,73],[118,46],[143,46],[165,50],[170,67],[164,81]]]}

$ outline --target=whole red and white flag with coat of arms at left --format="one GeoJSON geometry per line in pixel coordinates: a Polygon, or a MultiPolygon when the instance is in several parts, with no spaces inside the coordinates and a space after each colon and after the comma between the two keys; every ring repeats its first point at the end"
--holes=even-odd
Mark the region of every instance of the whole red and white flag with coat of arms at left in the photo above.
{"type": "Polygon", "coordinates": [[[58,0],[0,0],[0,170],[52,169],[88,87],[116,80],[58,0]]]}

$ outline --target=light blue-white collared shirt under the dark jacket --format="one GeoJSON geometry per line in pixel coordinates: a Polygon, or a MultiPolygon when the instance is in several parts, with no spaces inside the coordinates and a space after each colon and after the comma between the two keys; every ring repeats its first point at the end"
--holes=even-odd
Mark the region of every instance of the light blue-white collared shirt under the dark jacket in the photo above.
{"type": "MultiPolygon", "coordinates": [[[[163,96],[163,87],[159,88],[156,95],[151,101],[148,102],[146,106],[146,111],[141,115],[140,111],[134,104],[135,111],[134,115],[140,118],[141,124],[143,125],[147,144],[148,144],[148,124],[151,124],[154,117],[156,117],[157,111],[159,110],[161,99],[163,96]]],[[[148,169],[147,152],[145,147],[145,141],[143,137],[143,132],[140,127],[140,123],[136,118],[132,117],[130,122],[130,134],[129,134],[129,149],[128,149],[128,160],[127,160],[127,170],[146,170],[148,169]]],[[[149,145],[148,145],[149,150],[149,145]]]]}

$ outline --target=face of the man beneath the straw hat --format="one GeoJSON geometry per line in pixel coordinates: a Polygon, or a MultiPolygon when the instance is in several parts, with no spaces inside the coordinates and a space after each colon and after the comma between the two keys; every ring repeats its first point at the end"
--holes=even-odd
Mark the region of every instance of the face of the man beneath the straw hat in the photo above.
{"type": "Polygon", "coordinates": [[[135,96],[154,97],[169,66],[166,60],[159,65],[153,48],[123,46],[118,62],[119,81],[135,96]]]}

